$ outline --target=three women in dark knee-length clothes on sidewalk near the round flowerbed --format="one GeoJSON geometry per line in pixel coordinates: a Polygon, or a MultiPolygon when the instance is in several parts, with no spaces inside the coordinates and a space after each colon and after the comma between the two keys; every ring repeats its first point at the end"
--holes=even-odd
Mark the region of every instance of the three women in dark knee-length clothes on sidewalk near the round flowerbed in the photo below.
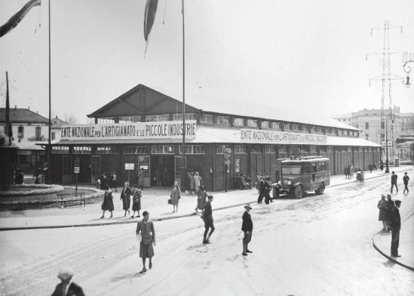
{"type": "MultiPolygon", "coordinates": [[[[102,216],[101,219],[105,217],[105,212],[108,210],[110,212],[110,218],[113,217],[112,212],[114,210],[114,202],[112,197],[112,190],[108,185],[105,185],[103,188],[105,193],[103,195],[103,202],[101,205],[102,209],[102,216]]],[[[141,210],[141,196],[142,191],[141,189],[137,188],[137,186],[130,187],[128,182],[124,183],[124,187],[121,191],[121,200],[122,200],[122,209],[125,211],[124,217],[126,217],[127,213],[130,215],[130,204],[131,204],[131,196],[132,196],[132,216],[131,218],[135,218],[135,212],[138,213],[137,217],[141,217],[139,215],[139,211],[141,210]]]]}

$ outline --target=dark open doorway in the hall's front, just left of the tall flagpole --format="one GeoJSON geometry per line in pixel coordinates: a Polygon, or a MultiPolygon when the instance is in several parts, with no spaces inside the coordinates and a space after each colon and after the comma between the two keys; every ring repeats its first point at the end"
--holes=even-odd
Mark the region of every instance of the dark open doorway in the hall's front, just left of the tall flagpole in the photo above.
{"type": "Polygon", "coordinates": [[[151,155],[151,186],[171,187],[174,184],[174,155],[151,155]]]}

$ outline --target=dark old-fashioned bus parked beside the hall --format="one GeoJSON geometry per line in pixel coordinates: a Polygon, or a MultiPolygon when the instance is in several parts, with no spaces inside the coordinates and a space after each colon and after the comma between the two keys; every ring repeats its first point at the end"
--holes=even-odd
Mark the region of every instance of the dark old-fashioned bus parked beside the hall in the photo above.
{"type": "Polygon", "coordinates": [[[306,191],[324,194],[331,180],[330,162],[327,157],[292,157],[280,161],[280,179],[272,184],[273,198],[281,194],[302,198],[306,191]]]}

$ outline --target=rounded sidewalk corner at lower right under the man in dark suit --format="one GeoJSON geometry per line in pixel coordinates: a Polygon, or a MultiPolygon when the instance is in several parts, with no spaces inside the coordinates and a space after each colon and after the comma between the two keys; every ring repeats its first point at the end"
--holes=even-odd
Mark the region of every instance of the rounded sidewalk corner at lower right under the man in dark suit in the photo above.
{"type": "Polygon", "coordinates": [[[400,231],[400,246],[398,253],[401,257],[391,257],[391,233],[382,231],[375,233],[373,237],[373,246],[384,257],[400,264],[406,268],[414,270],[414,215],[402,218],[402,228],[400,231]]]}

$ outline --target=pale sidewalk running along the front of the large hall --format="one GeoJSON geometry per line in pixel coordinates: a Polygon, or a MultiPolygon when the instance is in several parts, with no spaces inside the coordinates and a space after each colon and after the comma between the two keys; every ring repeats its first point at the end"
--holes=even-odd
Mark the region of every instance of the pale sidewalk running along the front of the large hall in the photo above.
{"type": "MultiPolygon", "coordinates": [[[[411,170],[411,166],[400,166],[390,168],[390,172],[404,172],[411,170]]],[[[365,179],[383,177],[385,174],[380,170],[365,172],[365,179]]],[[[389,181],[389,180],[388,180],[389,181]]],[[[354,179],[345,179],[344,175],[331,177],[329,187],[339,186],[355,182],[354,179]]],[[[79,188],[81,190],[81,188],[79,188]]],[[[106,213],[105,219],[99,219],[102,214],[101,203],[86,204],[85,207],[78,205],[68,206],[67,208],[41,208],[37,210],[16,210],[0,212],[0,230],[21,230],[36,228],[63,228],[77,226],[102,226],[108,224],[127,224],[136,223],[140,218],[132,219],[130,215],[124,217],[124,210],[121,210],[122,203],[119,199],[121,188],[118,192],[113,192],[115,211],[114,217],[109,219],[110,213],[106,213]]],[[[254,204],[257,202],[257,190],[229,190],[227,193],[211,193],[214,195],[213,210],[222,210],[244,204],[254,204]]],[[[195,215],[195,205],[197,198],[194,195],[181,193],[179,201],[179,212],[172,213],[172,206],[167,204],[170,195],[168,188],[148,188],[143,190],[141,198],[141,213],[148,210],[153,221],[164,219],[175,219],[195,215]]],[[[132,202],[131,202],[132,205],[132,202]]],[[[198,213],[198,215],[201,215],[198,213]]]]}

